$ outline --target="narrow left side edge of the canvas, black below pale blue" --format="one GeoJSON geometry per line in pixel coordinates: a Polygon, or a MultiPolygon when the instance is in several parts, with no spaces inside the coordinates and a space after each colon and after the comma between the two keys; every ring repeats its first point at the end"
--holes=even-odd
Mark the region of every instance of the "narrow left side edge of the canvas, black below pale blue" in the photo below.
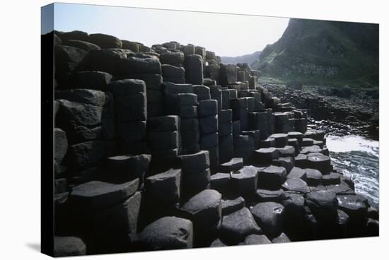
{"type": "MultiPolygon", "coordinates": [[[[54,27],[54,5],[42,7],[42,28],[54,27]],[[51,23],[43,24],[43,23],[51,23]]],[[[54,28],[53,28],[54,29],[54,28]]],[[[42,31],[42,33],[44,33],[42,31]]],[[[54,32],[41,35],[41,252],[54,249],[54,32]]]]}

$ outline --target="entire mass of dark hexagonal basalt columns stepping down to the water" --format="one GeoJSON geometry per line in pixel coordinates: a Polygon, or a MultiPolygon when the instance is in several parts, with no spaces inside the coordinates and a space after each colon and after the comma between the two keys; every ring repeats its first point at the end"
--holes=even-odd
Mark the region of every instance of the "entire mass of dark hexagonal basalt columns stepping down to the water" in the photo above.
{"type": "Polygon", "coordinates": [[[378,235],[378,210],[332,165],[303,97],[281,102],[248,64],[178,42],[42,37],[55,256],[378,235]]]}

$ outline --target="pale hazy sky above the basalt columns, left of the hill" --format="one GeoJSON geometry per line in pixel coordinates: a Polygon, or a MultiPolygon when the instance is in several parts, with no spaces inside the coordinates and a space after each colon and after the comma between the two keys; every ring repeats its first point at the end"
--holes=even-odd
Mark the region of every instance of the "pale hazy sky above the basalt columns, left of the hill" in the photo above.
{"type": "Polygon", "coordinates": [[[151,46],[177,41],[206,47],[219,56],[238,56],[276,42],[289,18],[165,11],[115,6],[55,4],[55,30],[115,35],[151,46]]]}

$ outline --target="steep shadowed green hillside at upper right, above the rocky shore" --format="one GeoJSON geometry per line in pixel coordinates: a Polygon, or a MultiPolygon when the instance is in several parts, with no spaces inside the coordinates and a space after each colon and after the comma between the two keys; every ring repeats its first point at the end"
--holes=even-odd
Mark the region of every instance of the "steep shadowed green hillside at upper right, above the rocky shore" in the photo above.
{"type": "Polygon", "coordinates": [[[292,18],[252,69],[284,82],[378,85],[378,24],[292,18]]]}

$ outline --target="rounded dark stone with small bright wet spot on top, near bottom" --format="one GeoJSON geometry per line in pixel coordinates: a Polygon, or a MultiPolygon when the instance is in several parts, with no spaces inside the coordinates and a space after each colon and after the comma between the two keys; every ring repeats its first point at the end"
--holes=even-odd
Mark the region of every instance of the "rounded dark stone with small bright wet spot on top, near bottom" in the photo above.
{"type": "Polygon", "coordinates": [[[262,202],[250,207],[257,224],[269,237],[277,237],[282,230],[284,206],[275,202],[262,202]]]}

